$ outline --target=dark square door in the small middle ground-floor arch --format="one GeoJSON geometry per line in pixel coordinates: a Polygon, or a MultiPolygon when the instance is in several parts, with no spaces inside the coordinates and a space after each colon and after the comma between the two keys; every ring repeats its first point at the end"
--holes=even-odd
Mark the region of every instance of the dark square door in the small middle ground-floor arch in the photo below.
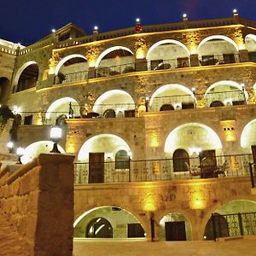
{"type": "Polygon", "coordinates": [[[166,241],[186,241],[184,221],[166,222],[166,241]]]}

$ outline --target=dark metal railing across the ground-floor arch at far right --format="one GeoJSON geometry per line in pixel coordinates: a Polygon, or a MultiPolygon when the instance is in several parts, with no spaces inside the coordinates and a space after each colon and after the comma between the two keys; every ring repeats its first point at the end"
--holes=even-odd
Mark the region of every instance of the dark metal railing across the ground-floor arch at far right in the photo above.
{"type": "MultiPolygon", "coordinates": [[[[256,235],[256,212],[212,214],[213,239],[226,236],[256,235]]],[[[207,237],[207,239],[211,237],[207,237]]]]}

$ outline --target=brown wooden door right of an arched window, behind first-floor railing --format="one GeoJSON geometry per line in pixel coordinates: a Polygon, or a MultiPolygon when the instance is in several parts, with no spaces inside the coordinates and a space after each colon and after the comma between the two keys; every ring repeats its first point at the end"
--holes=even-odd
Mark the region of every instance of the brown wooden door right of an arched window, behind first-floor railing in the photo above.
{"type": "Polygon", "coordinates": [[[214,177],[217,170],[215,150],[204,150],[199,154],[201,165],[201,177],[214,177]]]}

